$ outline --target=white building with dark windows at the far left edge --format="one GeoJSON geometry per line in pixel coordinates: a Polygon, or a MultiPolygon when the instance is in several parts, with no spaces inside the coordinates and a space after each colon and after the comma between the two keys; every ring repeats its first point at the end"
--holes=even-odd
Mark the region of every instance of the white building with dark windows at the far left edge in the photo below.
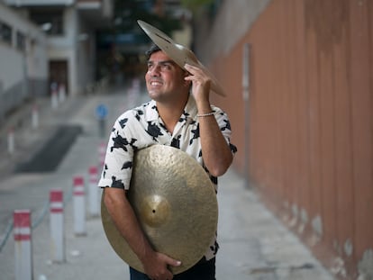
{"type": "Polygon", "coordinates": [[[0,120],[31,96],[48,92],[46,36],[0,2],[0,120]]]}

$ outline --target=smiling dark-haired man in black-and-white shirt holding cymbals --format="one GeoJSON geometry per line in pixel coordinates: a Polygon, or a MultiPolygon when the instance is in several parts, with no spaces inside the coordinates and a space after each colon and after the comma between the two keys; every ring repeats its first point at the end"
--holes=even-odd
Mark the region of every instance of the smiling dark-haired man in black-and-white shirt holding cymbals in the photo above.
{"type": "Polygon", "coordinates": [[[217,243],[187,271],[172,275],[180,261],[151,248],[126,198],[136,149],[154,144],[181,149],[205,167],[214,184],[232,163],[231,127],[223,111],[209,101],[211,77],[203,68],[185,65],[153,45],[147,53],[146,86],[151,101],[121,115],[114,124],[99,185],[117,229],[141,260],[142,274],[130,267],[131,279],[215,279],[217,243]],[[190,93],[191,92],[191,93],[190,93]]]}

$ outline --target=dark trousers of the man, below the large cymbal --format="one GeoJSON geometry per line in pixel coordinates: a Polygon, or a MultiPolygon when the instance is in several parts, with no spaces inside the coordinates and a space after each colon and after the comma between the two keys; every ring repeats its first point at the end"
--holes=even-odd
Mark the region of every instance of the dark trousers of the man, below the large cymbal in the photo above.
{"type": "MultiPolygon", "coordinates": [[[[130,267],[131,280],[151,280],[147,275],[130,267]]],[[[208,261],[200,261],[196,266],[174,275],[173,280],[216,280],[215,279],[215,258],[208,261]]]]}

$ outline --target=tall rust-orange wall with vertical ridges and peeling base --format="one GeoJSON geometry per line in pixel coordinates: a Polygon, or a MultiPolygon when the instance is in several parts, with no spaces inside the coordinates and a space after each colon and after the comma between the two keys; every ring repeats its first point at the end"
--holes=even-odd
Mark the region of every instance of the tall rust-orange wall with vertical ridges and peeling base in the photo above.
{"type": "Polygon", "coordinates": [[[212,68],[229,95],[214,101],[230,115],[235,166],[325,266],[341,257],[352,279],[373,249],[373,1],[274,0],[212,68]]]}

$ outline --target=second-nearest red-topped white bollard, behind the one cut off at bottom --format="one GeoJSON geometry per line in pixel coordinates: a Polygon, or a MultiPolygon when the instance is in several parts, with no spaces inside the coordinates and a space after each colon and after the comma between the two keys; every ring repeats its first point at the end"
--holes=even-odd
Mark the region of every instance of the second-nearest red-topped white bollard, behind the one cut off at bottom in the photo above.
{"type": "Polygon", "coordinates": [[[65,261],[63,192],[50,190],[50,254],[54,262],[65,261]]]}

